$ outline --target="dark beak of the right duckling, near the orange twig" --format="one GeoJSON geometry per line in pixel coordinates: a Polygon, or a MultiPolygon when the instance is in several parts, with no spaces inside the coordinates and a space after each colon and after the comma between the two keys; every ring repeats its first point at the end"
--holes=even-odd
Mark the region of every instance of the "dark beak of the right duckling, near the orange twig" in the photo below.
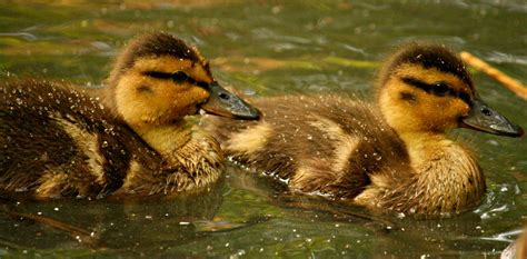
{"type": "Polygon", "coordinates": [[[470,113],[461,119],[461,127],[507,137],[524,135],[521,127],[510,122],[478,98],[473,99],[470,113]]]}

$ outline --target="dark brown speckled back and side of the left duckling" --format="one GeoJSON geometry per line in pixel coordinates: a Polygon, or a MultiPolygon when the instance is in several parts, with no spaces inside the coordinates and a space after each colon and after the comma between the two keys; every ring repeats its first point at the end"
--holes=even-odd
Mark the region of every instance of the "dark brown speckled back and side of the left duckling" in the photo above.
{"type": "Polygon", "coordinates": [[[43,197],[106,195],[122,186],[132,153],[156,160],[155,152],[108,116],[99,98],[87,90],[10,80],[0,92],[3,191],[32,190],[43,197]]]}

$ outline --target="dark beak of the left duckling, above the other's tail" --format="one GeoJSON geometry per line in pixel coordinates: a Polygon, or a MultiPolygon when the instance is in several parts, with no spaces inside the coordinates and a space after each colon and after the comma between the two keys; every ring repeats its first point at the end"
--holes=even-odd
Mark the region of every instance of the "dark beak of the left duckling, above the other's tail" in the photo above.
{"type": "Polygon", "coordinates": [[[210,97],[201,104],[205,111],[221,117],[228,117],[241,120],[258,120],[260,111],[251,104],[243,101],[232,92],[227,91],[217,82],[209,83],[207,90],[210,97]]]}

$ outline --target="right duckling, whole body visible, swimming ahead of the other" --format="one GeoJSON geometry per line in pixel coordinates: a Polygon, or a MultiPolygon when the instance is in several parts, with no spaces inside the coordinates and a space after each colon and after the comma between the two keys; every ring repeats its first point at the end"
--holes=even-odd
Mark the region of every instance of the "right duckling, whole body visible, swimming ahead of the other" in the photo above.
{"type": "Polygon", "coordinates": [[[384,64],[370,103],[336,94],[253,100],[258,122],[202,118],[223,151],[249,169],[374,211],[460,212],[486,190],[474,153],[446,131],[468,128],[519,137],[523,129],[476,94],[447,48],[409,43],[384,64]]]}

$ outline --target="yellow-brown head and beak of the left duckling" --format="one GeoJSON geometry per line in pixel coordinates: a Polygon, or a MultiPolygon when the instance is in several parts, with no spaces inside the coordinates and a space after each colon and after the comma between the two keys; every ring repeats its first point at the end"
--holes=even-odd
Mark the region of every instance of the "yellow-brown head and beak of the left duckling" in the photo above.
{"type": "Polygon", "coordinates": [[[108,84],[107,102],[136,127],[172,123],[199,109],[237,119],[259,117],[256,108],[218,84],[195,47],[163,32],[132,40],[108,84]]]}

